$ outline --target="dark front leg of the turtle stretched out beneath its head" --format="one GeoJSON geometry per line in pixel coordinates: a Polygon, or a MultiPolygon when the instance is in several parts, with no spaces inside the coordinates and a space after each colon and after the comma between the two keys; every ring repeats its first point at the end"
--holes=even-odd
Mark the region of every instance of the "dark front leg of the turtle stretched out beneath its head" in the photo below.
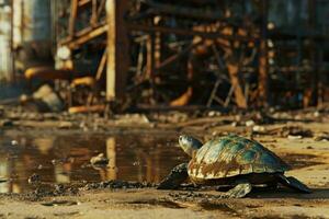
{"type": "Polygon", "coordinates": [[[182,163],[177,165],[171,170],[168,176],[166,176],[159,186],[158,189],[174,189],[178,188],[181,183],[183,183],[189,177],[188,174],[188,163],[182,163]]]}

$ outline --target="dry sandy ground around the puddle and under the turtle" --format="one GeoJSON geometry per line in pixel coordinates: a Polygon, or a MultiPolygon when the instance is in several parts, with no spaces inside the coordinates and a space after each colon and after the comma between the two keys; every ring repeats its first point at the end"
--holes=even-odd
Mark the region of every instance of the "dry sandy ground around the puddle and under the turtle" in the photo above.
{"type": "MultiPolygon", "coordinates": [[[[205,124],[202,120],[200,123],[205,124]]],[[[197,129],[200,125],[188,124],[183,132],[211,138],[212,135],[234,130],[251,136],[249,127],[216,123],[203,126],[203,131],[197,129]]],[[[329,130],[328,120],[284,122],[261,125],[258,129],[263,134],[252,135],[253,138],[290,163],[294,169],[286,175],[307,184],[313,194],[297,194],[288,188],[254,189],[246,198],[226,199],[219,197],[220,192],[208,188],[157,191],[155,187],[80,187],[75,194],[56,196],[2,194],[0,218],[329,218],[329,141],[315,139],[329,130]],[[313,136],[303,132],[293,136],[269,135],[270,130],[283,130],[288,125],[311,130],[313,136]]]]}

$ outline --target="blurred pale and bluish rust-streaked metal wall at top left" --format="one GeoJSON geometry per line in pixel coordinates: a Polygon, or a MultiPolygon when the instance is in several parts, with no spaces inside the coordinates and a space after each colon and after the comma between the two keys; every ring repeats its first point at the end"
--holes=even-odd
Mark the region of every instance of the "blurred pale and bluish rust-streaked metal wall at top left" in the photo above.
{"type": "Polygon", "coordinates": [[[52,65],[50,0],[13,0],[15,70],[52,65]]]}

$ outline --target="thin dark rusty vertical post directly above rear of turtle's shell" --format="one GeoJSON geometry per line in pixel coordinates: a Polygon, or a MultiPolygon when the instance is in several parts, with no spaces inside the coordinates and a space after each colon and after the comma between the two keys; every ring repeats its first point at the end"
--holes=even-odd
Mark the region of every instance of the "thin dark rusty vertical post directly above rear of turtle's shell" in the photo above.
{"type": "Polygon", "coordinates": [[[268,106],[269,104],[269,65],[268,65],[268,0],[261,1],[261,39],[259,58],[259,104],[268,106]]]}

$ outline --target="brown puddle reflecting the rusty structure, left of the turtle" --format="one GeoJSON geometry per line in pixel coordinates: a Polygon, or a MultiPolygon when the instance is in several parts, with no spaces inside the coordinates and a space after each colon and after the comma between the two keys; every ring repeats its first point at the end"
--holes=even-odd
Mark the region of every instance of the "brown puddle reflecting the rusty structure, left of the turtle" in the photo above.
{"type": "Polygon", "coordinates": [[[0,193],[33,189],[29,176],[43,183],[100,182],[124,180],[159,182],[177,164],[186,161],[172,136],[49,135],[0,137],[0,193]],[[18,143],[11,143],[15,140],[18,143]],[[90,158],[104,153],[104,169],[90,165],[90,158]]]}

